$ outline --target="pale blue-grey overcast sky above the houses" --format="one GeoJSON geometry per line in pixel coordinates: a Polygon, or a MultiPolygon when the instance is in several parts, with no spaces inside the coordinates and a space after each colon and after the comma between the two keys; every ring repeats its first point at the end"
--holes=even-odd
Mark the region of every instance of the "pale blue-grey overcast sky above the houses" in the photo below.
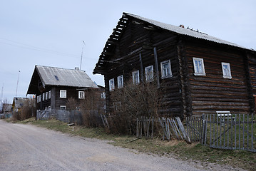
{"type": "Polygon", "coordinates": [[[255,9],[255,0],[0,0],[0,99],[26,97],[36,65],[80,67],[82,48],[81,69],[104,86],[93,68],[123,12],[256,50],[255,9]]]}

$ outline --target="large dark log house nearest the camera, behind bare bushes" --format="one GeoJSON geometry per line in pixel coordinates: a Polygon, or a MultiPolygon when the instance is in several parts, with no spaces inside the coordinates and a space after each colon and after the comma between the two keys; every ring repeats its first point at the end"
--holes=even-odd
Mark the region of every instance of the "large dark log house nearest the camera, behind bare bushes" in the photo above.
{"type": "Polygon", "coordinates": [[[165,115],[229,110],[254,113],[256,55],[250,48],[184,26],[123,13],[93,73],[106,84],[107,109],[118,85],[155,75],[168,108],[165,115]],[[150,74],[148,74],[150,73],[150,74]]]}

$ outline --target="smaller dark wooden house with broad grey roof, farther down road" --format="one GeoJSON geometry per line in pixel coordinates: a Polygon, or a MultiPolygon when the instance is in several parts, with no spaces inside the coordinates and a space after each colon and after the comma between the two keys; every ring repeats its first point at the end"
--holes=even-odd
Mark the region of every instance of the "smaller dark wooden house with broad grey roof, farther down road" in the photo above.
{"type": "Polygon", "coordinates": [[[97,89],[85,71],[35,66],[27,94],[36,95],[36,109],[66,109],[68,99],[85,98],[85,90],[97,89]]]}

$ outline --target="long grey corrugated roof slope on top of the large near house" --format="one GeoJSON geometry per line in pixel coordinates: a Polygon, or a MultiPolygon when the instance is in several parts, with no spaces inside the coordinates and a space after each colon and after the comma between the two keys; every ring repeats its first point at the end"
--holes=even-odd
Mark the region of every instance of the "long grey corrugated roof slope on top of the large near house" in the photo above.
{"type": "Polygon", "coordinates": [[[164,28],[165,30],[173,31],[175,33],[179,33],[181,35],[192,36],[194,38],[205,39],[207,41],[213,41],[215,43],[226,44],[226,45],[235,46],[235,47],[238,47],[238,48],[244,48],[244,49],[247,49],[247,50],[250,50],[250,51],[254,51],[252,48],[245,48],[243,46],[237,45],[236,43],[232,43],[232,42],[229,42],[229,41],[224,41],[220,38],[209,36],[206,33],[200,33],[198,31],[193,31],[193,30],[190,30],[188,28],[183,28],[183,27],[180,27],[180,26],[173,26],[171,24],[165,24],[165,23],[155,21],[155,20],[152,20],[152,19],[146,19],[144,17],[137,16],[137,15],[134,15],[134,14],[123,13],[123,16],[126,16],[126,15],[127,16],[132,16],[135,19],[146,21],[149,24],[153,24],[153,25],[158,26],[160,28],[164,28]]]}

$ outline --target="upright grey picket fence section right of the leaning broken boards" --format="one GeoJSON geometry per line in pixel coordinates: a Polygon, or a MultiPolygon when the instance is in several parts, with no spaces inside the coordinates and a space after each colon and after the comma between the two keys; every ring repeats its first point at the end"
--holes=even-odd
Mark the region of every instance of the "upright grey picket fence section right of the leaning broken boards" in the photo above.
{"type": "Polygon", "coordinates": [[[256,152],[255,115],[192,116],[186,118],[186,126],[192,141],[215,148],[256,152]]]}

